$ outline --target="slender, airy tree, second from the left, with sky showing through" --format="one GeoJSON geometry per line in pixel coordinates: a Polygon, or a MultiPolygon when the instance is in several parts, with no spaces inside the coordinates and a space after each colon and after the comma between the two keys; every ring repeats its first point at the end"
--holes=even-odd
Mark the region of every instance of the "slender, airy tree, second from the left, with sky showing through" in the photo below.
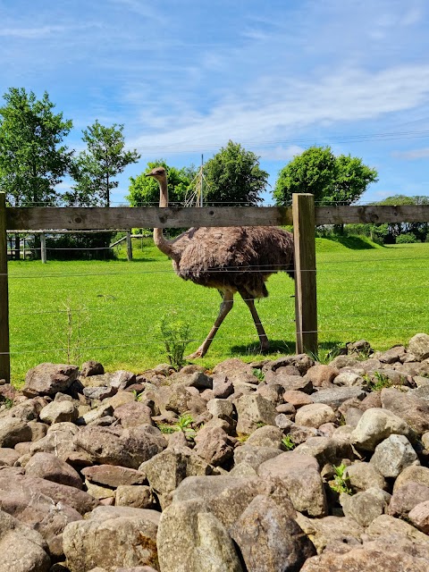
{"type": "Polygon", "coordinates": [[[111,191],[119,182],[114,180],[125,167],[137,163],[140,156],[136,149],[125,151],[123,125],[101,125],[98,120],[83,130],[82,140],[88,150],[82,151],[73,163],[72,177],[76,184],[66,193],[66,202],[80,206],[101,204],[110,206],[111,191]]]}

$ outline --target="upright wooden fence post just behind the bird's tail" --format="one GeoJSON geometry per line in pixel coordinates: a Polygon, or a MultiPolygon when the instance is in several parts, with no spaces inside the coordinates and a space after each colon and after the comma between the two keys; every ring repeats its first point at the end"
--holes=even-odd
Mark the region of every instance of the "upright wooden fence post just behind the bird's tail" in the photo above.
{"type": "Polygon", "coordinates": [[[295,319],[297,353],[317,353],[317,298],[315,282],[315,198],[292,195],[295,245],[295,319]]]}

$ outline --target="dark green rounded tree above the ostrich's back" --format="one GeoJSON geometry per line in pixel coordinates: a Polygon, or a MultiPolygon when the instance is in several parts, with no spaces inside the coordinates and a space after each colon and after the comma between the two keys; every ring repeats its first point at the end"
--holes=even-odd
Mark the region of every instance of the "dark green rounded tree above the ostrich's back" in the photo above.
{"type": "Polygon", "coordinates": [[[259,167],[259,157],[239,143],[228,141],[204,165],[206,205],[255,206],[262,201],[268,173],[259,167]]]}

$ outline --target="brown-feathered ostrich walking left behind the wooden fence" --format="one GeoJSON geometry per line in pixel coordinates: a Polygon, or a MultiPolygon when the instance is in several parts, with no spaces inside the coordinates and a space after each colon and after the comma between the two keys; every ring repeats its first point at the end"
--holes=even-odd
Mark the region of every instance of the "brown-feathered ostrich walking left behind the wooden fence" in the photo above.
{"type": "MultiPolygon", "coordinates": [[[[147,172],[158,181],[159,206],[168,206],[167,174],[164,167],[147,172]]],[[[188,358],[203,357],[216,332],[230,312],[239,292],[248,305],[257,328],[260,349],[269,341],[255,307],[255,299],[266,298],[265,281],[279,271],[293,278],[293,237],[288,231],[268,226],[191,228],[173,240],[166,240],[163,229],[154,229],[156,247],[172,258],[172,266],[183,280],[219,290],[223,300],[219,315],[206,340],[188,358]]]]}

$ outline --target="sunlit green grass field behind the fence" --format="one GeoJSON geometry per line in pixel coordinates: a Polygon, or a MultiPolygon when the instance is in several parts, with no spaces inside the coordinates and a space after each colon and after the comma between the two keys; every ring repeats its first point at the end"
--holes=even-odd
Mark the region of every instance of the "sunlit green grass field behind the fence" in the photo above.
{"type": "MultiPolygon", "coordinates": [[[[191,324],[198,348],[217,314],[217,291],[183,282],[172,265],[144,240],[135,259],[97,262],[9,263],[13,382],[44,361],[80,365],[97,359],[109,371],[141,372],[166,361],[159,324],[164,315],[191,324]]],[[[317,239],[319,341],[330,348],[365,338],[375,349],[407,343],[429,332],[429,244],[374,247],[349,239],[347,246],[317,239]],[[349,248],[351,247],[351,248],[349,248]]],[[[272,276],[270,297],[257,309],[275,357],[294,352],[293,282],[272,276]]],[[[218,332],[204,366],[227,357],[257,355],[248,308],[236,304],[218,332]]]]}

